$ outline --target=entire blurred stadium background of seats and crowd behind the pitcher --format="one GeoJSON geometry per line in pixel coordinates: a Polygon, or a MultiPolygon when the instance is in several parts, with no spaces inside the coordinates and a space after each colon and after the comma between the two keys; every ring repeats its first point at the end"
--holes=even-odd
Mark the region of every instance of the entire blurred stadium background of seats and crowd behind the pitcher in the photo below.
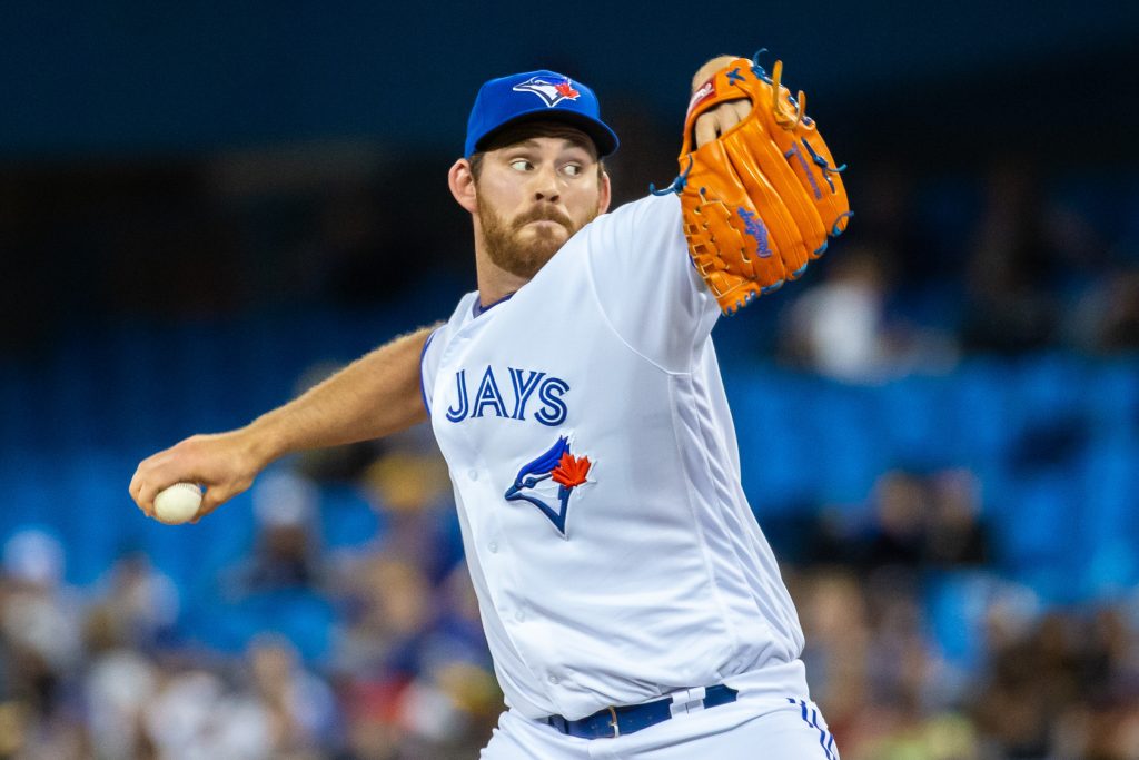
{"type": "Polygon", "coordinates": [[[500,709],[427,431],[196,526],[137,461],[473,287],[486,77],[589,82],[617,198],[770,47],[857,218],[716,328],[843,757],[1139,758],[1133,3],[0,7],[0,757],[472,758],[500,709]]]}

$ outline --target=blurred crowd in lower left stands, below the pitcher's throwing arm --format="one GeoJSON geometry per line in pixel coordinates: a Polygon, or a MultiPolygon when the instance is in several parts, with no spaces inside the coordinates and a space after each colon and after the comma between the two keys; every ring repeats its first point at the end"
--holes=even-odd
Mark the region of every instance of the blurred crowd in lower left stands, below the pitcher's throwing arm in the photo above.
{"type": "Polygon", "coordinates": [[[330,549],[321,483],[345,487],[360,453],[262,477],[253,542],[198,591],[130,550],[71,587],[50,531],[14,533],[0,575],[0,757],[474,757],[501,695],[445,472],[415,448],[368,461],[347,488],[376,520],[357,515],[364,530],[330,549]]]}

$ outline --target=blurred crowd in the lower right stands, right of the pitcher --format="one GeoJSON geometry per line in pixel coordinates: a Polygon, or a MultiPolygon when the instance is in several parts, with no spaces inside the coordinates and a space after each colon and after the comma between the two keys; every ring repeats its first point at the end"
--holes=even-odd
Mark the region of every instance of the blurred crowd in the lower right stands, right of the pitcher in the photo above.
{"type": "Polygon", "coordinates": [[[994,570],[978,495],[966,472],[890,472],[796,550],[804,660],[843,757],[1139,757],[1139,594],[1047,603],[994,570]]]}

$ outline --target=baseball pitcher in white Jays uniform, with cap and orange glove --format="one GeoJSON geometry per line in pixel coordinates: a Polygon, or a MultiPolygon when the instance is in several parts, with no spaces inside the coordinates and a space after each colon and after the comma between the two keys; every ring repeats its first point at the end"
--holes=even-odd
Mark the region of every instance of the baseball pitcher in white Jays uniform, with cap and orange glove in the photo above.
{"type": "Polygon", "coordinates": [[[146,459],[132,497],[153,515],[163,488],[203,483],[200,517],[287,452],[429,418],[507,704],[483,758],[835,760],[710,337],[849,215],[779,73],[705,64],[681,174],[613,213],[593,92],[550,71],[486,82],[448,177],[478,289],[248,426],[146,459]],[[748,153],[772,129],[778,167],[748,153]]]}

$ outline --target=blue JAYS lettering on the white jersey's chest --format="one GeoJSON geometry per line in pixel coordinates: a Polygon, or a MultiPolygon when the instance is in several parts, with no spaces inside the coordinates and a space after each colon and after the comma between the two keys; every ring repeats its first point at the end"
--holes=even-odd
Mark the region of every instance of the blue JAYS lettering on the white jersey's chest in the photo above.
{"type": "Polygon", "coordinates": [[[498,374],[487,366],[454,374],[454,391],[446,418],[452,423],[478,417],[535,419],[555,427],[570,414],[565,394],[570,383],[536,369],[507,367],[498,374]]]}

